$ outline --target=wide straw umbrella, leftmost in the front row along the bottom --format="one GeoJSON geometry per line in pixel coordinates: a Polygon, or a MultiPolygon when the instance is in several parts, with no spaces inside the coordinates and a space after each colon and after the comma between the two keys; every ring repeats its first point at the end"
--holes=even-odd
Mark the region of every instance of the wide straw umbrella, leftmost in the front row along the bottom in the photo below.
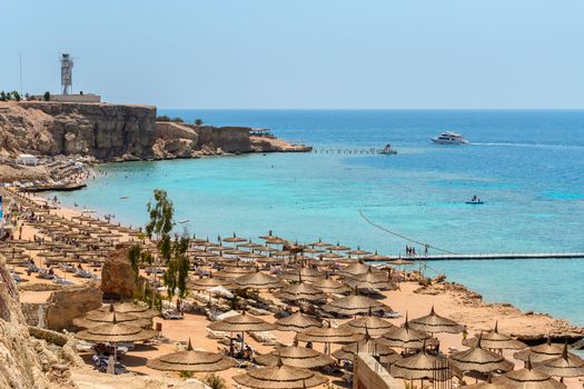
{"type": "Polygon", "coordinates": [[[150,369],[194,372],[221,371],[235,365],[236,361],[231,358],[208,351],[195,351],[190,339],[187,350],[167,353],[146,362],[150,369]]]}

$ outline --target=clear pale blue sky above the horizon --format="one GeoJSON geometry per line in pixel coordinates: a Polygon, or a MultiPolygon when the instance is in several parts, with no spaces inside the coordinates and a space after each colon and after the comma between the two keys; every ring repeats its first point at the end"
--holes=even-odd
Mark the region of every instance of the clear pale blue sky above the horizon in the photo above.
{"type": "Polygon", "coordinates": [[[0,89],[200,109],[581,109],[583,0],[0,0],[0,89]]]}

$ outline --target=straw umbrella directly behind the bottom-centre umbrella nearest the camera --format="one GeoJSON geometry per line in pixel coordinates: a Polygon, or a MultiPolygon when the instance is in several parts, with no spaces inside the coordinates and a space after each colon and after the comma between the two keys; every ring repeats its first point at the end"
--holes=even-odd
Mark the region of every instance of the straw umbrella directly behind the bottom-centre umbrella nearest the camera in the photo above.
{"type": "Polygon", "coordinates": [[[294,346],[283,347],[270,353],[259,356],[256,358],[256,361],[259,365],[277,366],[278,358],[281,358],[284,365],[300,369],[316,369],[335,363],[335,360],[327,355],[310,348],[298,347],[298,341],[296,340],[294,346]]]}

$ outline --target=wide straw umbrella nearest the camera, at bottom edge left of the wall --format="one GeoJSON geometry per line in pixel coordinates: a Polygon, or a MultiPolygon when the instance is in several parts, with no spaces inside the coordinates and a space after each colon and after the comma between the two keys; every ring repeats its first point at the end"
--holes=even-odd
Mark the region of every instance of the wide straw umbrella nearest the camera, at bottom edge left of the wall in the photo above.
{"type": "Polygon", "coordinates": [[[286,366],[279,359],[275,367],[249,370],[235,376],[234,381],[255,389],[304,389],[324,385],[328,379],[308,369],[286,366]]]}

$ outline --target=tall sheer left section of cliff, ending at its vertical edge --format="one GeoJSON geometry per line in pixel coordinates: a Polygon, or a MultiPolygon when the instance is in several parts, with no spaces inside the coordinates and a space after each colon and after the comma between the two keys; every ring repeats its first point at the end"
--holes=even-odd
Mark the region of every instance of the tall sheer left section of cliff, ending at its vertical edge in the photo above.
{"type": "Polygon", "coordinates": [[[0,148],[99,160],[152,158],[156,108],[27,101],[0,110],[0,148]]]}

